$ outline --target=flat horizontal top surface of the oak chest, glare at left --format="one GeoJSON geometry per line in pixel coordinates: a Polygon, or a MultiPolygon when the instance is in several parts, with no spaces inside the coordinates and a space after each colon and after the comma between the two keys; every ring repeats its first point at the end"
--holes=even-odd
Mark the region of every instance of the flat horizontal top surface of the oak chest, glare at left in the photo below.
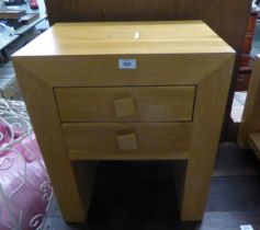
{"type": "Polygon", "coordinates": [[[223,54],[234,50],[202,21],[57,23],[14,56],[223,54]]]}

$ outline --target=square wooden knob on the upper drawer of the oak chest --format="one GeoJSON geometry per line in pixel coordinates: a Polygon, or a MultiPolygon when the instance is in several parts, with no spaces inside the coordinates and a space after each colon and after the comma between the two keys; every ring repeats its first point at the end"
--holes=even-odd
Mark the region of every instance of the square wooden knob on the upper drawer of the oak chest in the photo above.
{"type": "Polygon", "coordinates": [[[135,103],[133,99],[118,99],[113,101],[115,116],[121,117],[128,117],[134,116],[136,114],[135,103]]]}

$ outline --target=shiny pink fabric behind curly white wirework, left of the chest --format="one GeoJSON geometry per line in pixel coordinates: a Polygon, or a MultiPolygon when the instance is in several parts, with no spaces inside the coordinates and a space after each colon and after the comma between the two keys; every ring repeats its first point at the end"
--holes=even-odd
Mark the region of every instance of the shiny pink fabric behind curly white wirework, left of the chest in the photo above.
{"type": "MultiPolygon", "coordinates": [[[[20,138],[19,130],[14,137],[20,138]]],[[[10,139],[11,130],[0,122],[0,149],[10,139]]],[[[15,226],[22,230],[37,229],[44,221],[53,192],[34,134],[12,149],[0,151],[0,230],[15,226]]]]}

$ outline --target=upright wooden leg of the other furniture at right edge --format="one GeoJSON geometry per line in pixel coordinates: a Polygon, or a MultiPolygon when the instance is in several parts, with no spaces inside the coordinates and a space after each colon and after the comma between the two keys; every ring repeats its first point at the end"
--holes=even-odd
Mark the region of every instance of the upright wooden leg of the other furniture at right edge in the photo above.
{"type": "Polygon", "coordinates": [[[248,148],[250,133],[260,131],[260,56],[253,62],[253,70],[249,83],[247,101],[238,134],[238,143],[248,148]]]}

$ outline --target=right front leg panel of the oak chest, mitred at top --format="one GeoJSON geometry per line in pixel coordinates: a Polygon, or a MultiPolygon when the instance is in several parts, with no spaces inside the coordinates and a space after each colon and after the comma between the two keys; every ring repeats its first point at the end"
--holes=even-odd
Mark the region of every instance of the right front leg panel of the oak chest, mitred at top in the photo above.
{"type": "Polygon", "coordinates": [[[197,85],[191,151],[181,199],[181,218],[203,218],[225,113],[234,57],[197,85]],[[194,208],[196,207],[196,208],[194,208]]]}

